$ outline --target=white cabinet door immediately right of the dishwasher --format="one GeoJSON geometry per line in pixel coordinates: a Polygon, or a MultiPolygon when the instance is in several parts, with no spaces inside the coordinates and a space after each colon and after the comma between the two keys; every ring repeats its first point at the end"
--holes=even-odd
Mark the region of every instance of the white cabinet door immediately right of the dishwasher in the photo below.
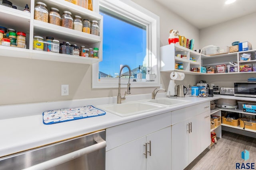
{"type": "Polygon", "coordinates": [[[106,152],[106,170],[146,170],[146,137],[106,152]]]}

